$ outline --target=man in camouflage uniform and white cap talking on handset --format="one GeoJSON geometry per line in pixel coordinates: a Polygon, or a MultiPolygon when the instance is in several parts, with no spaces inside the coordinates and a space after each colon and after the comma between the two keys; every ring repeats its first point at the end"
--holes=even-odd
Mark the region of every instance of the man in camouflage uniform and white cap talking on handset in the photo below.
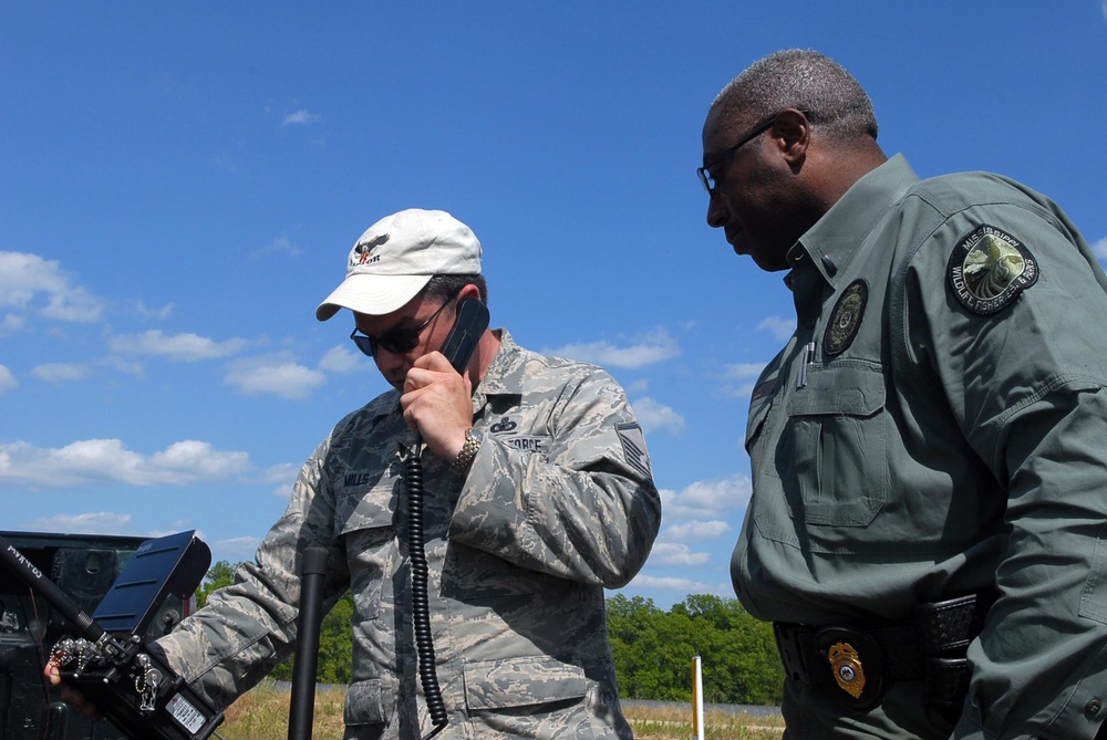
{"type": "Polygon", "coordinates": [[[214,706],[292,654],[299,563],[321,546],[325,604],[348,588],[354,600],[346,740],[631,737],[603,590],[638,573],[660,525],[642,430],[607,372],[528,352],[503,329],[482,330],[454,371],[439,350],[461,302],[487,301],[480,256],[444,211],[394,213],[354,243],[315,316],[349,309],[351,337],[394,389],[320,444],[236,583],[151,646],[214,706]],[[426,661],[412,616],[416,517],[426,661]]]}

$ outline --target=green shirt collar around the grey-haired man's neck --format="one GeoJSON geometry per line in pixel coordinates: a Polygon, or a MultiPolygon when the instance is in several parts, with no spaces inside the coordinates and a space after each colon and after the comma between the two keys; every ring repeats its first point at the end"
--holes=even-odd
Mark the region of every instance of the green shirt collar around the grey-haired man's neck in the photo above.
{"type": "MultiPolygon", "coordinates": [[[[848,273],[865,236],[918,181],[907,158],[897,154],[846,190],[788,250],[788,264],[794,271],[814,265],[836,288],[836,277],[848,273]]],[[[790,273],[788,278],[795,280],[790,273]]]]}

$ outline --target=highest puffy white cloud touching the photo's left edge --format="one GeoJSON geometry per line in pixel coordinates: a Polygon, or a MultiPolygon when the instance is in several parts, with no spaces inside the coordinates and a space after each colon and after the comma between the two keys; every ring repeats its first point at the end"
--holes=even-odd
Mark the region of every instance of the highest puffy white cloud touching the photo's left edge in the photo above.
{"type": "Polygon", "coordinates": [[[94,322],[104,310],[103,301],[74,284],[56,260],[0,251],[0,306],[29,310],[39,295],[46,301],[42,315],[59,321],[94,322]]]}

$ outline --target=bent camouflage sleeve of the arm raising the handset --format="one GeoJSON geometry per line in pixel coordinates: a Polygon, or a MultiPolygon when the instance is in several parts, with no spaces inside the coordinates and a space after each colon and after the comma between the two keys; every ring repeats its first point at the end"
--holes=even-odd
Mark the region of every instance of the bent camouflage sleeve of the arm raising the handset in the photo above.
{"type": "Polygon", "coordinates": [[[485,435],[448,536],[520,567],[618,588],[650,553],[661,499],[622,388],[599,368],[568,379],[548,452],[485,435]]]}

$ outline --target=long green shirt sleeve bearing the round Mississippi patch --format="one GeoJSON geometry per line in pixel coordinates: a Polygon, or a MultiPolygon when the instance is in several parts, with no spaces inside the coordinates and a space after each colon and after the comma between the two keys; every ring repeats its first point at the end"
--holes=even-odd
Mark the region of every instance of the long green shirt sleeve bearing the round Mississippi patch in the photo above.
{"type": "Polygon", "coordinates": [[[1092,738],[1107,713],[1101,270],[1048,210],[993,205],[950,218],[911,273],[910,352],[925,357],[996,483],[964,494],[1006,497],[999,600],[969,649],[971,688],[953,737],[1092,738]],[[959,296],[964,254],[950,246],[981,225],[1022,242],[1032,284],[1004,294],[1015,283],[999,275],[991,293],[959,296]]]}

